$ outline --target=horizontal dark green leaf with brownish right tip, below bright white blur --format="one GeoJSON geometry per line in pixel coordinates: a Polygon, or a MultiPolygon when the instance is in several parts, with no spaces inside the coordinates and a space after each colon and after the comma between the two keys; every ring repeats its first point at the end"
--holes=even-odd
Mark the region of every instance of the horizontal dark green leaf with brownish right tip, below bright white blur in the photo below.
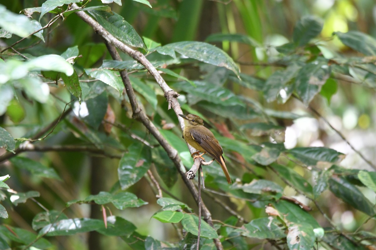
{"type": "Polygon", "coordinates": [[[316,165],[317,162],[338,163],[344,154],[325,147],[292,148],[287,151],[306,165],[316,165]]]}

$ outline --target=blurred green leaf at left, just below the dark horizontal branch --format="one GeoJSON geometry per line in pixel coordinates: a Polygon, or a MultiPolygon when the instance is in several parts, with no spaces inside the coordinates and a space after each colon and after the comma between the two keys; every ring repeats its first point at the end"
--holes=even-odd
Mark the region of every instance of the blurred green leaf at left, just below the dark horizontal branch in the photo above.
{"type": "Polygon", "coordinates": [[[55,169],[44,166],[42,163],[32,159],[17,156],[10,159],[10,162],[17,168],[25,169],[33,175],[61,180],[55,169]]]}

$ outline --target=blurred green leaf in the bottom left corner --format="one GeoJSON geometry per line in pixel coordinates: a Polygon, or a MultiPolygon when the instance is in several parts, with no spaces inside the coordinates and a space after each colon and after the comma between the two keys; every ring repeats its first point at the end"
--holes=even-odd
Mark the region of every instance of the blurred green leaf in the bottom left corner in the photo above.
{"type": "Polygon", "coordinates": [[[24,246],[30,244],[30,249],[53,248],[53,245],[46,239],[44,238],[37,239],[37,235],[22,228],[15,228],[12,226],[0,226],[0,235],[2,235],[2,237],[0,238],[8,238],[10,241],[23,244],[24,246]]]}

